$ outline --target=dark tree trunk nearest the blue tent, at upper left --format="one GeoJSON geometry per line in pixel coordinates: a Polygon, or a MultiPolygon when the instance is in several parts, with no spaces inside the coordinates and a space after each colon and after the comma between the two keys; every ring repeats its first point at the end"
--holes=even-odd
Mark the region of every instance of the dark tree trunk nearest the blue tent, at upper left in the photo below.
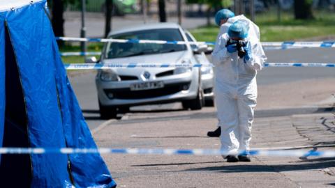
{"type": "MultiPolygon", "coordinates": [[[[64,36],[64,2],[62,0],[54,0],[52,2],[52,29],[54,30],[54,36],[64,36]]],[[[64,45],[63,41],[57,41],[59,46],[64,45]]]]}

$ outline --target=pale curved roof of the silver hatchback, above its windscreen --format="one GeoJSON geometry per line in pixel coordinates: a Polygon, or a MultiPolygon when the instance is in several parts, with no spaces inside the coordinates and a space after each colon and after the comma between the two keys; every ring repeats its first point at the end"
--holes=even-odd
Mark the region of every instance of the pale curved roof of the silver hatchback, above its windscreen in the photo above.
{"type": "Polygon", "coordinates": [[[128,33],[131,31],[142,31],[142,30],[149,30],[149,29],[179,29],[179,24],[176,23],[155,23],[155,24],[142,24],[137,26],[128,27],[125,29],[120,29],[117,31],[112,31],[108,36],[117,35],[119,33],[128,33]]]}

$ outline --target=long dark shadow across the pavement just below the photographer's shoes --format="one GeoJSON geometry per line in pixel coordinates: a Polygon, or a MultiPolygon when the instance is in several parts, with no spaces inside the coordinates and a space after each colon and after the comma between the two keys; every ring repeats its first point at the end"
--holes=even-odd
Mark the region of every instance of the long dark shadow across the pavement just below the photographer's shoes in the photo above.
{"type": "MultiPolygon", "coordinates": [[[[216,173],[243,173],[243,172],[283,172],[283,171],[307,171],[313,169],[325,169],[335,166],[334,158],[320,158],[313,159],[313,162],[301,164],[276,164],[276,165],[255,165],[255,164],[241,164],[224,165],[224,166],[210,166],[203,168],[186,169],[183,171],[212,171],[216,173]]],[[[228,164],[228,163],[227,163],[228,164]]]]}

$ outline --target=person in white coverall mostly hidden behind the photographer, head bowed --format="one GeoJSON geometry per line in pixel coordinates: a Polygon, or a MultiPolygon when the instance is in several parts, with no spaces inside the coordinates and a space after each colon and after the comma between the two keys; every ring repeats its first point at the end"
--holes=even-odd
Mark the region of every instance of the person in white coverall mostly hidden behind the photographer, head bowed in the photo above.
{"type": "MultiPolygon", "coordinates": [[[[244,15],[234,16],[234,13],[229,13],[230,10],[227,10],[227,9],[223,9],[223,10],[219,10],[218,13],[216,13],[216,17],[215,17],[215,22],[218,23],[218,20],[221,20],[221,23],[219,24],[220,31],[218,32],[218,36],[216,37],[216,45],[215,45],[214,49],[218,48],[217,47],[218,38],[220,38],[220,36],[222,36],[223,33],[227,33],[229,26],[232,23],[236,22],[237,20],[244,20],[244,21],[248,22],[248,25],[249,25],[248,36],[253,36],[255,38],[258,38],[258,40],[260,40],[260,29],[250,19],[248,19],[244,15]],[[223,11],[223,12],[220,13],[220,11],[223,11]],[[223,13],[225,13],[225,14],[223,14],[223,13]],[[225,18],[223,15],[230,15],[230,16],[232,15],[232,17],[225,18]],[[225,18],[225,19],[223,19],[223,18],[225,18]]],[[[218,137],[218,136],[220,136],[220,134],[221,134],[221,127],[220,126],[218,126],[218,128],[214,131],[207,132],[207,136],[210,136],[210,137],[218,137]]]]}

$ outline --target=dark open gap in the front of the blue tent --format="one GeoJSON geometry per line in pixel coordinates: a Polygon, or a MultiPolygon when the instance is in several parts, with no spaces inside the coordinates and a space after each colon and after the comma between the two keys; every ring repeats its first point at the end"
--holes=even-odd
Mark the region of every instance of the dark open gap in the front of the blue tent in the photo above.
{"type": "MultiPolygon", "coordinates": [[[[19,69],[10,34],[6,27],[6,115],[3,146],[8,148],[28,148],[29,136],[26,105],[22,91],[19,69]]],[[[30,155],[1,155],[1,187],[30,187],[30,155]]]]}

